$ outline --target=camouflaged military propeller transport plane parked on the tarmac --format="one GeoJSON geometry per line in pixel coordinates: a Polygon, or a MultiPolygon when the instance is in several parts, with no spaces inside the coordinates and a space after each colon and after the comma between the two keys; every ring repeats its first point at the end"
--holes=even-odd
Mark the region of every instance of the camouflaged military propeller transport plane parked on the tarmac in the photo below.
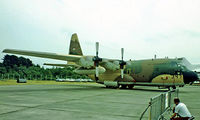
{"type": "Polygon", "coordinates": [[[97,83],[112,88],[133,88],[140,86],[158,86],[159,88],[183,87],[198,80],[197,73],[192,71],[200,65],[192,65],[185,58],[149,59],[124,61],[107,59],[98,56],[99,43],[96,43],[96,56],[83,55],[77,34],[71,37],[69,54],[56,54],[15,49],[5,49],[4,53],[50,58],[68,61],[68,64],[45,64],[52,66],[75,66],[74,72],[88,75],[97,83]]]}

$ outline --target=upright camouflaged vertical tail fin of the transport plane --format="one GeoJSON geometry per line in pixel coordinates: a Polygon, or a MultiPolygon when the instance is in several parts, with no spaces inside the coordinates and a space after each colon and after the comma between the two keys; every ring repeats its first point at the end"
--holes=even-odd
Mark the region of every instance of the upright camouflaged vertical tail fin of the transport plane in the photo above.
{"type": "Polygon", "coordinates": [[[78,36],[76,33],[74,33],[71,37],[69,54],[70,55],[83,55],[81,46],[80,46],[80,43],[78,40],[78,36]]]}

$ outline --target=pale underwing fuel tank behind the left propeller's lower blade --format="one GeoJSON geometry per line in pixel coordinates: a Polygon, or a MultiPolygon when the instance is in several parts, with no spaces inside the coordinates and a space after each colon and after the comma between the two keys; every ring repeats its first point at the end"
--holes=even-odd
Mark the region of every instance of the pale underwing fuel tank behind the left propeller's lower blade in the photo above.
{"type": "MultiPolygon", "coordinates": [[[[106,72],[106,69],[104,67],[99,66],[99,74],[102,74],[104,72],[106,72]]],[[[81,75],[93,75],[96,73],[96,69],[82,69],[82,68],[78,68],[74,70],[75,73],[77,74],[81,74],[81,75]]]]}

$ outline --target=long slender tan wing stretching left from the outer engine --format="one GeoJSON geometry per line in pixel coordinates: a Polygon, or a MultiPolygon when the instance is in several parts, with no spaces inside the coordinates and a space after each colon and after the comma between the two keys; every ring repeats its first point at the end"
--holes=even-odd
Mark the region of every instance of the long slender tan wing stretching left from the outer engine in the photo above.
{"type": "Polygon", "coordinates": [[[50,58],[63,61],[78,61],[82,56],[78,55],[64,55],[57,53],[48,53],[48,52],[36,52],[36,51],[26,51],[26,50],[16,50],[16,49],[4,49],[4,53],[18,54],[18,55],[27,55],[41,58],[50,58]]]}

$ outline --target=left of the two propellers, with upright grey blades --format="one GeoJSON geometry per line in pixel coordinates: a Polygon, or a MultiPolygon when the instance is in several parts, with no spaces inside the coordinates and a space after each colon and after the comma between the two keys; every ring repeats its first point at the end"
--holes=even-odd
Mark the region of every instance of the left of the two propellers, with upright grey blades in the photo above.
{"type": "Polygon", "coordinates": [[[99,78],[99,62],[102,61],[102,58],[99,58],[98,56],[99,54],[99,42],[96,42],[96,56],[94,56],[93,58],[93,61],[94,61],[94,66],[95,66],[95,69],[96,69],[96,80],[98,80],[99,78]]]}

